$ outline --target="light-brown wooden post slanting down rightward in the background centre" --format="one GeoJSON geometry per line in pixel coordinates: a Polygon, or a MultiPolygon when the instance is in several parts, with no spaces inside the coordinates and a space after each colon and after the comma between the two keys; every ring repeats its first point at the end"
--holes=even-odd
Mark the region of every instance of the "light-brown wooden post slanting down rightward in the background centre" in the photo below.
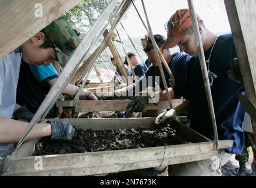
{"type": "MultiPolygon", "coordinates": [[[[106,30],[104,32],[104,37],[106,37],[108,34],[108,31],[106,30]]],[[[127,83],[128,83],[128,72],[127,70],[125,69],[125,66],[124,66],[124,63],[122,62],[122,58],[121,56],[119,55],[119,53],[117,52],[117,48],[115,48],[115,45],[114,45],[114,42],[112,39],[108,39],[107,41],[107,45],[108,45],[108,48],[109,50],[111,51],[114,59],[116,59],[116,61],[118,62],[118,68],[119,70],[121,71],[122,73],[122,76],[125,76],[125,79],[127,79],[127,83]]]]}

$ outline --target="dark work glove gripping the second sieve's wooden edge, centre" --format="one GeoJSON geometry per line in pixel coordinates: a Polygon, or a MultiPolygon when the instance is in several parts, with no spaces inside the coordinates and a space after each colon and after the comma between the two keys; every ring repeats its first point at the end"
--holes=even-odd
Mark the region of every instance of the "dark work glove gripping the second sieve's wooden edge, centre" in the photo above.
{"type": "Polygon", "coordinates": [[[132,100],[131,103],[129,103],[129,105],[127,106],[127,109],[130,109],[129,110],[130,113],[142,112],[142,110],[144,110],[147,107],[149,103],[149,99],[154,99],[154,98],[155,98],[154,94],[147,95],[147,96],[139,96],[134,100],[132,100]]]}

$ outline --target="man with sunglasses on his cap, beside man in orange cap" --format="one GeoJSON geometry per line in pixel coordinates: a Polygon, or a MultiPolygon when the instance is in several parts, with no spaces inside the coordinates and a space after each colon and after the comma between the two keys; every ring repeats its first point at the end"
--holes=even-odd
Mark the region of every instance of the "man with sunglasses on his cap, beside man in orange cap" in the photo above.
{"type": "MultiPolygon", "coordinates": [[[[168,66],[171,69],[175,78],[176,84],[175,86],[172,87],[170,82],[171,77],[169,76],[165,66],[162,66],[162,68],[164,69],[164,76],[165,76],[165,80],[167,80],[168,91],[171,95],[171,99],[181,98],[184,95],[185,72],[187,70],[187,63],[189,59],[191,59],[191,56],[187,55],[186,53],[179,53],[179,52],[171,55],[168,49],[162,49],[162,45],[164,45],[166,41],[164,36],[154,35],[154,38],[155,38],[155,41],[157,42],[157,45],[159,46],[162,53],[164,54],[165,60],[168,62],[168,66]]],[[[167,96],[164,90],[164,83],[161,78],[161,73],[157,63],[157,58],[155,56],[154,48],[152,46],[152,42],[150,38],[147,38],[147,48],[145,48],[145,53],[147,53],[149,60],[152,62],[152,65],[149,66],[149,68],[145,72],[145,76],[140,78],[138,82],[135,82],[134,84],[129,85],[127,88],[125,88],[126,92],[133,93],[133,95],[138,96],[138,93],[135,93],[135,91],[140,92],[141,90],[145,90],[148,87],[157,88],[157,85],[158,85],[161,91],[158,90],[156,95],[159,95],[159,100],[167,100],[167,96]],[[156,82],[157,82],[157,85],[155,85],[156,82]]],[[[125,92],[124,89],[115,91],[116,95],[120,95],[119,93],[124,93],[124,92],[125,92]]],[[[140,98],[142,99],[142,97],[140,98]]],[[[145,98],[145,100],[148,100],[148,99],[145,98]]],[[[146,106],[144,105],[143,108],[141,108],[140,110],[135,110],[134,112],[141,112],[141,110],[143,110],[145,107],[146,106]]]]}

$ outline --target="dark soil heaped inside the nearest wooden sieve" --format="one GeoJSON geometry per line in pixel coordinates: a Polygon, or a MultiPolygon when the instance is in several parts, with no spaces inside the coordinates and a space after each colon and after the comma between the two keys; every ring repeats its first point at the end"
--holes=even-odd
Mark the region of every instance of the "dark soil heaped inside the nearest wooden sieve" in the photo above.
{"type": "Polygon", "coordinates": [[[35,155],[56,155],[67,153],[98,152],[106,150],[135,149],[142,147],[157,147],[185,143],[176,130],[169,125],[155,130],[144,127],[129,130],[77,129],[70,141],[48,140],[43,138],[36,145],[35,155]]]}

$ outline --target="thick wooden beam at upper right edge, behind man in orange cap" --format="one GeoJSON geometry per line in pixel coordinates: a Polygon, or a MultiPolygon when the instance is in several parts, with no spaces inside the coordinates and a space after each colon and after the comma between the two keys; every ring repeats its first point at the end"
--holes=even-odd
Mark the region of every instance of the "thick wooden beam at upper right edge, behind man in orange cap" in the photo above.
{"type": "MultiPolygon", "coordinates": [[[[256,106],[256,1],[225,0],[245,92],[256,106]]],[[[256,122],[252,120],[256,140],[256,122]]]]}

